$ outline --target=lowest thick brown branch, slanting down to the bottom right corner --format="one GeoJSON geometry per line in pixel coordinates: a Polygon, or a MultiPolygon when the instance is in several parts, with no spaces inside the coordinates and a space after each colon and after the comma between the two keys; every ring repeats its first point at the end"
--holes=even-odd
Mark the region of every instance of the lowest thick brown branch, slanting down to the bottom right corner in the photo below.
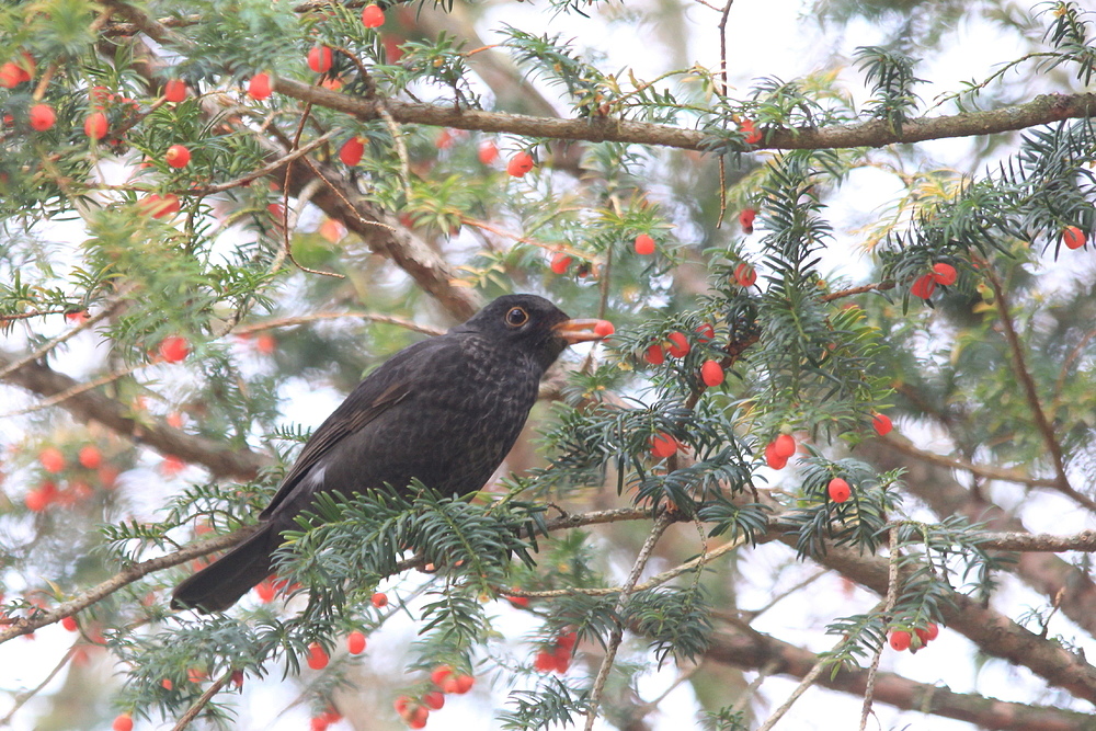
{"type": "MultiPolygon", "coordinates": [[[[819,661],[812,652],[753,631],[717,632],[705,658],[747,670],[769,667],[770,672],[794,677],[806,676],[819,661]]],[[[867,676],[865,670],[846,669],[834,677],[829,672],[822,673],[815,684],[861,696],[867,688],[867,676]]],[[[954,693],[947,687],[915,683],[894,673],[877,675],[875,698],[903,710],[954,718],[995,731],[1083,731],[1093,728],[1093,717],[1085,713],[954,693]]],[[[834,720],[832,726],[841,724],[834,720]]]]}

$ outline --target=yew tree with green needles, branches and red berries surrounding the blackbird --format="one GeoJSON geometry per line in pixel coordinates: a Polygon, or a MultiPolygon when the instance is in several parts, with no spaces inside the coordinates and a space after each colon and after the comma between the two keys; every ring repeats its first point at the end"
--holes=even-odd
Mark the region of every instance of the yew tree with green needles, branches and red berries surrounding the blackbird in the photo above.
{"type": "MultiPolygon", "coordinates": [[[[448,665],[477,678],[482,728],[640,728],[665,697],[655,673],[710,728],[763,723],[789,695],[769,675],[834,689],[799,703],[845,728],[861,703],[865,719],[1092,728],[1096,16],[898,4],[820,3],[836,27],[867,12],[874,39],[785,80],[719,58],[640,79],[545,30],[633,28],[642,4],[541,3],[510,24],[381,3],[372,28],[359,0],[7,3],[0,653],[78,631],[41,670],[59,662],[65,687],[8,693],[9,719],[91,687],[70,724],[230,727],[269,678],[313,728],[398,728],[448,665]],[[1027,53],[940,89],[945,28],[979,15],[1027,53]],[[969,151],[923,144],[952,138],[969,151]],[[536,163],[521,178],[520,152],[536,163]],[[550,374],[496,482],[327,498],[237,607],[168,607],[339,395],[507,292],[616,332],[550,374]],[[740,608],[764,604],[746,576],[774,561],[798,579],[740,608]],[[788,597],[821,601],[809,640],[818,617],[788,597]],[[772,607],[784,624],[755,623],[772,607]],[[391,656],[344,649],[409,626],[391,656]],[[1008,661],[1023,682],[936,688],[957,681],[890,649],[895,632],[918,659],[1008,661]],[[307,667],[317,646],[330,663],[307,667]],[[104,651],[113,676],[82,669],[104,651]]],[[[723,11],[682,18],[715,39],[723,11]]]]}

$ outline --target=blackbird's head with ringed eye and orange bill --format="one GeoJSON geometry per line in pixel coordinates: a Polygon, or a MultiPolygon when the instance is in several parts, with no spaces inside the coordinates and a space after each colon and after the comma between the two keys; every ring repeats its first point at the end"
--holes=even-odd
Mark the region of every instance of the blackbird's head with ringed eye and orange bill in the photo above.
{"type": "Polygon", "coordinates": [[[547,369],[568,345],[604,335],[594,332],[600,320],[572,320],[536,295],[504,295],[455,328],[477,332],[492,342],[530,353],[547,369]]]}

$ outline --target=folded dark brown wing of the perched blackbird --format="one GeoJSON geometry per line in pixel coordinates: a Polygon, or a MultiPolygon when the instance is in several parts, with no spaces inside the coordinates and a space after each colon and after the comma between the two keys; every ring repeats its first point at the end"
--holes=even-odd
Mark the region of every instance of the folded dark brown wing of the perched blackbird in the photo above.
{"type": "Polygon", "coordinates": [[[459,345],[446,335],[432,338],[410,345],[365,377],[351,391],[338,409],[331,412],[319,429],[305,444],[293,469],[282,481],[277,493],[260,521],[269,518],[285,502],[297,483],[304,479],[317,462],[347,436],[355,434],[388,409],[410,396],[421,378],[429,378],[431,363],[438,357],[448,357],[449,351],[459,345]]]}

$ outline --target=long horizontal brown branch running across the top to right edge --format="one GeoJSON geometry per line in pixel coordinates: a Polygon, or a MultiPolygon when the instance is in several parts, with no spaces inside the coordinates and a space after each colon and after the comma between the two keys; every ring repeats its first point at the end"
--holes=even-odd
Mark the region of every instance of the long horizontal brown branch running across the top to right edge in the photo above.
{"type": "MultiPolygon", "coordinates": [[[[380,118],[376,99],[349,96],[278,77],[276,91],[304,102],[353,114],[359,119],[380,118]]],[[[703,132],[646,122],[607,117],[557,119],[524,114],[502,114],[480,110],[460,110],[449,105],[420,104],[393,99],[384,100],[385,110],[400,123],[478,129],[529,137],[551,137],[592,142],[633,142],[704,150],[712,137],[703,132]]],[[[1096,112],[1096,94],[1046,94],[1027,104],[989,112],[914,119],[895,133],[886,122],[860,122],[821,129],[774,129],[765,142],[753,149],[831,149],[845,147],[883,147],[897,142],[918,142],[948,137],[972,137],[1026,129],[1040,124],[1088,116],[1096,112]]]]}

